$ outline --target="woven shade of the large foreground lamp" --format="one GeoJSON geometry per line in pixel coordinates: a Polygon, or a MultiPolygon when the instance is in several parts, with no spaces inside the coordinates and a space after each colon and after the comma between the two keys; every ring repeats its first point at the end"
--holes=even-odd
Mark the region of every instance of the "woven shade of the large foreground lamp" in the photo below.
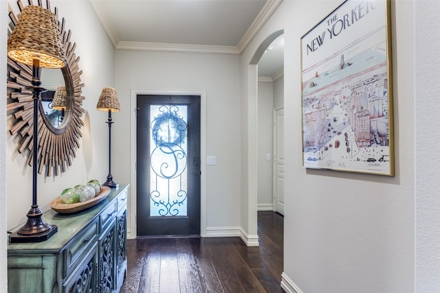
{"type": "Polygon", "coordinates": [[[8,38],[8,56],[30,66],[38,59],[39,67],[65,67],[65,51],[55,14],[37,5],[23,8],[19,23],[8,38]]]}

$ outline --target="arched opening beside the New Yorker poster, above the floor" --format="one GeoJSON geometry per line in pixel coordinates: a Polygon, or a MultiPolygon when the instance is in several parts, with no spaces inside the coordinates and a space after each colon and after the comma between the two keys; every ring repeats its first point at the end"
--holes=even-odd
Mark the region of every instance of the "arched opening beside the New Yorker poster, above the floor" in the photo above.
{"type": "Polygon", "coordinates": [[[258,211],[283,214],[284,34],[258,62],[258,211]]]}

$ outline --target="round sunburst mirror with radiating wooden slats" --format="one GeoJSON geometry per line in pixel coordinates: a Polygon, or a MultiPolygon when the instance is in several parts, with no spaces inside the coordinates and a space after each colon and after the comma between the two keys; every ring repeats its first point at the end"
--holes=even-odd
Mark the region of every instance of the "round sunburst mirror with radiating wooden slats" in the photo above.
{"type": "MultiPolygon", "coordinates": [[[[17,1],[19,10],[23,10],[21,1],[17,1]]],[[[29,0],[29,5],[33,5],[29,0]]],[[[43,7],[39,0],[38,5],[43,7]]],[[[46,1],[46,7],[50,8],[50,1],[46,1]]],[[[71,31],[65,31],[65,19],[59,21],[58,9],[54,8],[54,14],[58,19],[61,32],[61,42],[65,48],[66,66],[63,69],[43,69],[41,81],[44,88],[48,89],[39,101],[39,152],[37,166],[39,174],[45,172],[46,176],[52,176],[65,172],[67,165],[72,165],[72,159],[76,156],[76,149],[80,147],[79,139],[82,137],[81,127],[84,125],[81,119],[85,113],[83,105],[82,88],[79,69],[79,56],[75,55],[76,43],[70,41],[71,31]],[[65,86],[65,107],[60,110],[52,108],[52,99],[59,86],[65,86]]],[[[14,26],[17,25],[19,14],[9,12],[11,20],[8,36],[14,26]]],[[[25,89],[32,86],[32,67],[15,62],[8,58],[8,119],[11,119],[9,132],[17,136],[17,151],[27,154],[28,164],[34,163],[32,158],[32,128],[33,128],[33,100],[32,91],[25,89]]]]}

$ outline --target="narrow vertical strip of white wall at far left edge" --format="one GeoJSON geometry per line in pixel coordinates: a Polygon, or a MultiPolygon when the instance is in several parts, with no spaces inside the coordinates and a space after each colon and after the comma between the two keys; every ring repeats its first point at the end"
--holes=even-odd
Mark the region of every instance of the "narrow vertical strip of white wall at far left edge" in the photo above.
{"type": "MultiPolygon", "coordinates": [[[[8,9],[6,0],[0,1],[0,11],[8,9]]],[[[6,17],[0,18],[0,96],[6,95],[6,40],[8,31],[6,17]]],[[[0,207],[6,207],[6,104],[0,104],[0,207]]],[[[4,211],[4,210],[3,210],[4,211]]],[[[0,242],[0,292],[7,292],[8,266],[7,250],[4,235],[6,235],[6,213],[0,213],[0,235],[3,241],[0,242]]]]}

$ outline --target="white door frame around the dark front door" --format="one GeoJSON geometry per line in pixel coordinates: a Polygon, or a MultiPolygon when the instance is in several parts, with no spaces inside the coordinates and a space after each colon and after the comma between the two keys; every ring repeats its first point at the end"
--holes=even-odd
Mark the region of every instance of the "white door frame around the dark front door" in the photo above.
{"type": "Polygon", "coordinates": [[[137,236],[136,223],[136,109],[137,95],[199,95],[200,96],[200,235],[206,236],[206,91],[190,90],[131,90],[131,115],[130,115],[130,194],[128,202],[129,223],[127,223],[127,239],[137,236]]]}

